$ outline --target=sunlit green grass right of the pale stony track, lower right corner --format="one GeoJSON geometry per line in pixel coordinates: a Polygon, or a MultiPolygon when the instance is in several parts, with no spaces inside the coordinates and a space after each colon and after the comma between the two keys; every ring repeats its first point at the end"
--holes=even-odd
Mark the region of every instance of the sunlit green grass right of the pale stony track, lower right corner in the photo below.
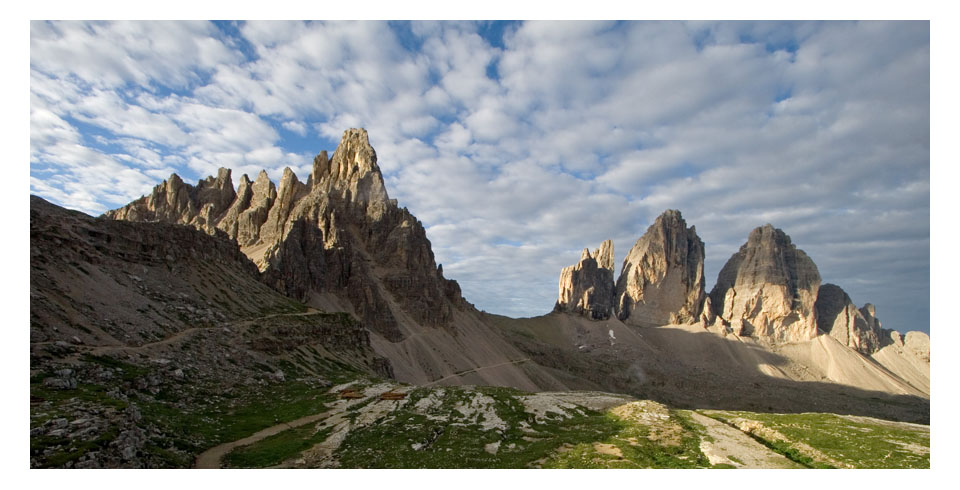
{"type": "Polygon", "coordinates": [[[754,439],[811,468],[930,467],[927,426],[829,413],[702,413],[734,426],[744,419],[762,424],[750,433],[754,439]]]}

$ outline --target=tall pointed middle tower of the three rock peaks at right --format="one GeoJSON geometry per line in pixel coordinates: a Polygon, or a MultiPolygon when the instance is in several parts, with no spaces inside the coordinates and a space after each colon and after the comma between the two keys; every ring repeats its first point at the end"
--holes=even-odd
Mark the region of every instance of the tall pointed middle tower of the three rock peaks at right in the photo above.
{"type": "Polygon", "coordinates": [[[617,314],[635,325],[694,323],[706,297],[703,241],[668,210],[634,244],[617,279],[617,314]]]}

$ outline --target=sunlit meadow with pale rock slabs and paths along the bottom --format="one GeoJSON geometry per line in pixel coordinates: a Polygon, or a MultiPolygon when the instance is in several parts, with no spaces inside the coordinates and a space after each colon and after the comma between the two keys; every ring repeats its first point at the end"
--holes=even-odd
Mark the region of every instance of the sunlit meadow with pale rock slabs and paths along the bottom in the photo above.
{"type": "Polygon", "coordinates": [[[326,410],[221,444],[196,466],[928,468],[929,428],[832,414],[671,410],[598,392],[355,381],[326,410]],[[384,394],[387,394],[384,396],[384,394]],[[402,394],[402,395],[395,395],[402,394]],[[393,396],[391,396],[393,395],[393,396]],[[402,399],[389,399],[398,398],[402,399]],[[388,399],[385,399],[388,398],[388,399]]]}

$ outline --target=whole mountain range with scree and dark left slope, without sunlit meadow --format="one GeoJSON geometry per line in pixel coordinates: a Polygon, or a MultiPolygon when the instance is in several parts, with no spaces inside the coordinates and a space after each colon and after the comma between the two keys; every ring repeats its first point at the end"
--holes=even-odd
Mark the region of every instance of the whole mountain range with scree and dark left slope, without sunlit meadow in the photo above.
{"type": "Polygon", "coordinates": [[[709,293],[703,241],[667,210],[619,275],[612,241],[585,249],[553,311],[479,311],[363,129],[305,181],[174,174],[99,218],[31,197],[30,242],[35,467],[199,465],[286,413],[267,407],[306,416],[361,376],[929,423],[929,337],[882,328],[770,224],[709,293]]]}

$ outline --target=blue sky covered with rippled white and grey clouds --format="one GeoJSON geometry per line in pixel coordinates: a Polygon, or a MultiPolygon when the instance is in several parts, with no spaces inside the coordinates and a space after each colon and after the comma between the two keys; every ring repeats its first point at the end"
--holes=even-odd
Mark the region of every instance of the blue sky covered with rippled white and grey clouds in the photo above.
{"type": "Polygon", "coordinates": [[[66,207],[220,166],[305,178],[350,127],[487,311],[549,311],[580,250],[619,263],[675,208],[708,290],[772,223],[929,331],[927,22],[30,25],[30,191],[66,207]]]}

